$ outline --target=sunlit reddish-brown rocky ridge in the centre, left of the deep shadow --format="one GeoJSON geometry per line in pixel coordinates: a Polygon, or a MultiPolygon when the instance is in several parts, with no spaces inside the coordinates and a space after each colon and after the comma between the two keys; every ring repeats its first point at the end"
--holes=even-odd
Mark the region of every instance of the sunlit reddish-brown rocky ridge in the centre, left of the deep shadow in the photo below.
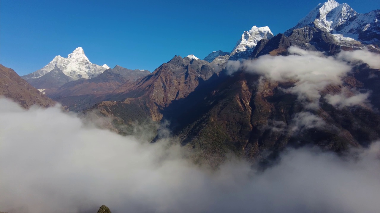
{"type": "MultiPolygon", "coordinates": [[[[120,114],[115,113],[112,110],[114,108],[118,112],[130,111],[130,108],[140,109],[144,113],[139,114],[160,121],[163,108],[174,100],[187,97],[199,84],[212,75],[217,75],[219,71],[220,68],[207,61],[175,56],[135,85],[124,84],[115,89],[109,98],[113,102],[100,103],[96,108],[114,115],[120,114]]],[[[126,117],[135,118],[130,115],[126,117]]],[[[122,119],[125,121],[126,117],[122,119]]]]}

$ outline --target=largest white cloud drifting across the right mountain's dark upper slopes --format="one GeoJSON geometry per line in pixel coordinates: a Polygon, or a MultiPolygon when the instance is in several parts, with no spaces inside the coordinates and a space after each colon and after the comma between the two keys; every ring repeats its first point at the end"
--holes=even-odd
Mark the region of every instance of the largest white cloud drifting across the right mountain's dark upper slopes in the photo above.
{"type": "Polygon", "coordinates": [[[342,77],[351,70],[345,62],[323,56],[321,52],[307,51],[290,47],[290,53],[298,55],[264,55],[256,60],[247,60],[237,66],[236,61],[227,66],[230,72],[244,69],[260,74],[272,81],[295,81],[294,86],[284,91],[296,94],[309,108],[318,108],[320,91],[328,85],[339,85],[342,77]],[[233,63],[233,64],[232,64],[233,63]]]}

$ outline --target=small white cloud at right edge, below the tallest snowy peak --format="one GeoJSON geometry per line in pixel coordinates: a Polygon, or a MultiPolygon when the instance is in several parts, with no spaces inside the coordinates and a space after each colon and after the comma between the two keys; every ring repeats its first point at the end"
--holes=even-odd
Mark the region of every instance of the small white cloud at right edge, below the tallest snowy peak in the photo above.
{"type": "Polygon", "coordinates": [[[341,51],[337,59],[349,62],[364,62],[374,69],[380,69],[380,54],[367,50],[341,51]]]}

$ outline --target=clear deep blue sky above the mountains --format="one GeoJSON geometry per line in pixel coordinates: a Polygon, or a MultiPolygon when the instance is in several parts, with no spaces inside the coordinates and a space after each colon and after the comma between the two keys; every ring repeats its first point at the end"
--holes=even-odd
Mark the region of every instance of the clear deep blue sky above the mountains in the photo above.
{"type": "MultiPolygon", "coordinates": [[[[282,33],[323,2],[0,0],[0,63],[25,75],[83,47],[92,63],[152,72],[174,55],[230,52],[253,25],[282,33]]],[[[375,0],[345,3],[380,9],[375,0]]]]}

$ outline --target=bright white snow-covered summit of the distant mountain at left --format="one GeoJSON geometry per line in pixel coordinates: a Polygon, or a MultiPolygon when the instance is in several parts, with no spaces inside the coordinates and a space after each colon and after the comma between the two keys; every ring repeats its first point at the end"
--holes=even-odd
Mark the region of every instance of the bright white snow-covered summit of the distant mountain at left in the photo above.
{"type": "Polygon", "coordinates": [[[39,78],[53,70],[55,67],[62,70],[63,74],[71,77],[73,80],[79,78],[93,78],[104,72],[106,69],[109,69],[106,64],[103,66],[92,64],[84,54],[82,47],[78,47],[72,53],[68,54],[67,58],[57,55],[43,68],[31,74],[24,75],[22,78],[25,80],[39,78]]]}

